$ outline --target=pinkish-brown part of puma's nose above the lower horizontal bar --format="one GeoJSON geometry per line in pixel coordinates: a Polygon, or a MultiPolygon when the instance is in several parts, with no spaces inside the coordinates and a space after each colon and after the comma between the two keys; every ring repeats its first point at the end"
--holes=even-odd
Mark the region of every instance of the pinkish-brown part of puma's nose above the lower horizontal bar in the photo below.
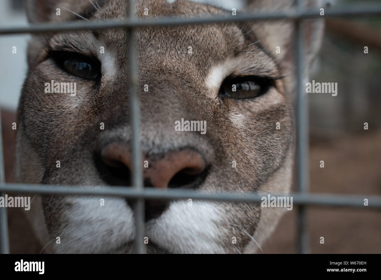
{"type": "MultiPolygon", "coordinates": [[[[102,161],[111,168],[124,167],[130,173],[132,162],[126,144],[109,144],[101,152],[102,161]]],[[[168,187],[196,187],[197,178],[205,171],[205,161],[192,149],[171,151],[162,155],[143,157],[144,186],[166,189],[168,187]]],[[[128,182],[125,182],[126,185],[128,182]]]]}

